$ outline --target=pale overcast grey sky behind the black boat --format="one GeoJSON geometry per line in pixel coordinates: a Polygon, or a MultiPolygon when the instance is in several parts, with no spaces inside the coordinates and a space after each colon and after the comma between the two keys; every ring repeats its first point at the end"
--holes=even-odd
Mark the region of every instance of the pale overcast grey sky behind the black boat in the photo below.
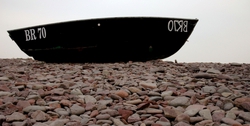
{"type": "Polygon", "coordinates": [[[250,0],[0,0],[0,58],[28,58],[7,30],[124,16],[199,19],[189,42],[166,60],[250,63],[250,0]]]}

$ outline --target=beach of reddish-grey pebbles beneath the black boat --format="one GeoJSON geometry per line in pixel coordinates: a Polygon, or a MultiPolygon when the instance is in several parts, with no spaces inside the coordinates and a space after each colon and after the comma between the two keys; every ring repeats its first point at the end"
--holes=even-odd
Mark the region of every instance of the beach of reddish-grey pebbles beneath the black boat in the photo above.
{"type": "Polygon", "coordinates": [[[2,126],[250,126],[250,64],[0,59],[2,126]]]}

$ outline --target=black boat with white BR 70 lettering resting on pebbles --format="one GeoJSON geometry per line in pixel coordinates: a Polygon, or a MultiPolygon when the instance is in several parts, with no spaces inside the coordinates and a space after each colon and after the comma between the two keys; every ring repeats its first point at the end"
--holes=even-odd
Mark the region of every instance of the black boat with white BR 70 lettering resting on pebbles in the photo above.
{"type": "Polygon", "coordinates": [[[45,62],[128,62],[167,58],[187,41],[198,19],[108,17],[8,30],[28,56],[45,62]]]}

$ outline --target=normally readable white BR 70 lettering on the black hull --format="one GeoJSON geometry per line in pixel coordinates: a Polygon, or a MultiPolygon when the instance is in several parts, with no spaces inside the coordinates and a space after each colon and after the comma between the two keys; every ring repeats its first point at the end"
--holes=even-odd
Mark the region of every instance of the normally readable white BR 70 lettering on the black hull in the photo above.
{"type": "Polygon", "coordinates": [[[45,39],[46,38],[46,29],[44,27],[37,28],[37,33],[35,29],[27,29],[24,30],[26,41],[32,41],[37,39],[45,39]]]}

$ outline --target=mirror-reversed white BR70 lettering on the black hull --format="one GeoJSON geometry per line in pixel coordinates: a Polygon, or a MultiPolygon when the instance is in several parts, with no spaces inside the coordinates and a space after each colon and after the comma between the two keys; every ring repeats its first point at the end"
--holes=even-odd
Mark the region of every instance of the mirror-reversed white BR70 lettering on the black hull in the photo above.
{"type": "Polygon", "coordinates": [[[188,21],[170,20],[168,21],[168,31],[188,32],[188,21]]]}

